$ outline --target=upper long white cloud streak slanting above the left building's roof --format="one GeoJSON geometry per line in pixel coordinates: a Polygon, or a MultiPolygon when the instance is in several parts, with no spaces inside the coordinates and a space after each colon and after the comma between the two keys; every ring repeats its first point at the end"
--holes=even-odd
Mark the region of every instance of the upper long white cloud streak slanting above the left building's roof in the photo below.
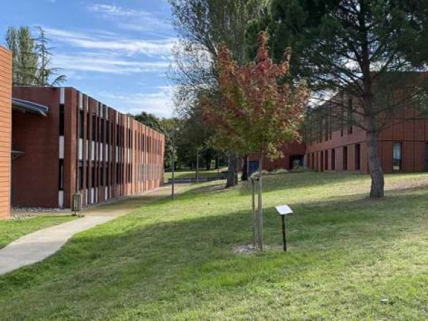
{"type": "Polygon", "coordinates": [[[151,57],[170,55],[171,49],[177,43],[175,38],[161,40],[124,39],[116,35],[74,32],[55,28],[46,28],[47,35],[57,42],[68,43],[76,48],[93,50],[113,50],[130,55],[143,54],[151,57]]]}

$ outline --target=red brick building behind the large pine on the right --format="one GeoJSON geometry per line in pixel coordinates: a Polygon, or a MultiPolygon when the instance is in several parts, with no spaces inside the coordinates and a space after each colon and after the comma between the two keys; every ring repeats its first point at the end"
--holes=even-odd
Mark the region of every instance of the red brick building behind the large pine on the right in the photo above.
{"type": "MultiPolygon", "coordinates": [[[[418,77],[428,79],[424,73],[418,77]]],[[[348,104],[352,105],[353,99],[348,99],[348,104]]],[[[363,130],[343,124],[342,128],[334,130],[328,117],[320,119],[316,127],[312,130],[315,135],[309,135],[311,138],[306,140],[308,168],[369,173],[367,135],[363,130]]],[[[421,117],[418,110],[403,106],[378,136],[377,148],[384,173],[428,171],[427,119],[421,117]]]]}

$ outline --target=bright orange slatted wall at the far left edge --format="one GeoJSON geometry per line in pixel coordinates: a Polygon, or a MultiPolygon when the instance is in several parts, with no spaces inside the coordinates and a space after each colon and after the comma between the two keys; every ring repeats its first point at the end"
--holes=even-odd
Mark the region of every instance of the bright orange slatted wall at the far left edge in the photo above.
{"type": "Polygon", "coordinates": [[[12,62],[0,46],[0,219],[10,214],[10,139],[12,126],[12,62]]]}

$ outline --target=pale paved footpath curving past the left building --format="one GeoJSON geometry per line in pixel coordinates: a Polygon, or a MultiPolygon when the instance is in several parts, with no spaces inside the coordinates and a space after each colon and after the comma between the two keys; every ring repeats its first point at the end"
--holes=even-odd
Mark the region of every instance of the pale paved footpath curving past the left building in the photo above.
{"type": "MultiPolygon", "coordinates": [[[[179,192],[188,184],[175,186],[179,192]]],[[[95,206],[84,211],[85,217],[45,228],[28,234],[0,250],[0,275],[14,271],[22,266],[40,262],[54,254],[67,240],[76,233],[86,231],[94,226],[104,224],[116,217],[130,213],[140,206],[171,195],[171,186],[158,188],[155,191],[129,197],[124,200],[95,206]]]]}

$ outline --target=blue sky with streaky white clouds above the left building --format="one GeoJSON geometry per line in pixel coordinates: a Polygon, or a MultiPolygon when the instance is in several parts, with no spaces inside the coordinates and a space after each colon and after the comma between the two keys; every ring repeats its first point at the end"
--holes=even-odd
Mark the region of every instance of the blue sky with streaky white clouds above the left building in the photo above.
{"type": "Polygon", "coordinates": [[[1,43],[8,26],[41,26],[53,64],[73,86],[125,113],[172,114],[166,76],[177,39],[167,0],[2,0],[1,43]]]}

